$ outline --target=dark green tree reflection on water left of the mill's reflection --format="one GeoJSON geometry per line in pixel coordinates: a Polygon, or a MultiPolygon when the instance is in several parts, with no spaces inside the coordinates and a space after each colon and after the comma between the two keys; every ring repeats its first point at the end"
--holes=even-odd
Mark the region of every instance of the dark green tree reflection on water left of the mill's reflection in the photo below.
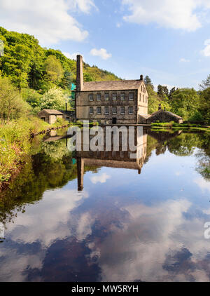
{"type": "Polygon", "coordinates": [[[40,200],[44,191],[64,187],[76,179],[77,166],[72,164],[71,157],[65,140],[41,143],[39,153],[28,157],[20,174],[0,194],[0,222],[13,220],[15,213],[25,211],[26,204],[40,200]]]}

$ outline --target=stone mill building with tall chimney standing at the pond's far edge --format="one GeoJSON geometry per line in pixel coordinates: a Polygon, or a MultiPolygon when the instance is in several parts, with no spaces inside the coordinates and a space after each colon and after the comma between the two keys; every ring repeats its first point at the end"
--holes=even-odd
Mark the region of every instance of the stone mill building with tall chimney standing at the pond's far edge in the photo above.
{"type": "Polygon", "coordinates": [[[76,118],[101,124],[138,123],[148,114],[148,93],[139,80],[83,82],[83,58],[77,56],[76,118]]]}

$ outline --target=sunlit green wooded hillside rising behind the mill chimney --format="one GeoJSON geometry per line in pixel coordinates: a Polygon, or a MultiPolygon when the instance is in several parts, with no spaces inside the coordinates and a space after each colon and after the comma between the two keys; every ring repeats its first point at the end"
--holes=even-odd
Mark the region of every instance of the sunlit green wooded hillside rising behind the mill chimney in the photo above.
{"type": "MultiPolygon", "coordinates": [[[[59,50],[45,49],[29,34],[9,32],[0,27],[0,39],[4,43],[4,55],[0,60],[0,72],[9,76],[14,86],[33,88],[43,94],[59,86],[71,89],[76,82],[76,61],[66,58],[59,50]]],[[[118,80],[111,72],[84,63],[85,81],[118,80]]]]}

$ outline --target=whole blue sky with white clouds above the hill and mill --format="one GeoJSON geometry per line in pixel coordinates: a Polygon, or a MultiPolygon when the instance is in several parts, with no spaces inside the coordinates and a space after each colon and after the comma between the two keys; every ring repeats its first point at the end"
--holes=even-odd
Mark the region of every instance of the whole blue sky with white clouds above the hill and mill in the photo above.
{"type": "Polygon", "coordinates": [[[194,87],[210,74],[210,0],[0,0],[0,25],[123,79],[194,87]]]}

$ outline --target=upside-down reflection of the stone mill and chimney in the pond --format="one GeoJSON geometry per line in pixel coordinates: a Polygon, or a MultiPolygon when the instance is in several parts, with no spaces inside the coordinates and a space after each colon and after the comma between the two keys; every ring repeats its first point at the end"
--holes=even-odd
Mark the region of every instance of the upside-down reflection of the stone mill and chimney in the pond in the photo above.
{"type": "MultiPolygon", "coordinates": [[[[104,151],[98,150],[96,152],[93,152],[91,151],[91,149],[89,149],[88,151],[82,150],[76,152],[78,169],[78,190],[83,190],[83,175],[85,166],[127,168],[130,170],[138,170],[138,173],[140,174],[141,168],[143,167],[144,161],[146,159],[147,134],[143,130],[141,130],[141,133],[139,133],[138,135],[138,133],[136,132],[134,137],[134,141],[137,146],[137,150],[135,150],[134,152],[122,151],[121,146],[119,151],[114,151],[113,145],[111,151],[105,151],[105,141],[104,147],[101,147],[104,151]]],[[[83,143],[81,147],[84,147],[83,143]]]]}

